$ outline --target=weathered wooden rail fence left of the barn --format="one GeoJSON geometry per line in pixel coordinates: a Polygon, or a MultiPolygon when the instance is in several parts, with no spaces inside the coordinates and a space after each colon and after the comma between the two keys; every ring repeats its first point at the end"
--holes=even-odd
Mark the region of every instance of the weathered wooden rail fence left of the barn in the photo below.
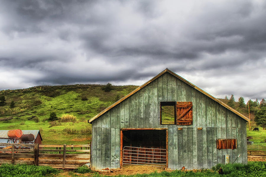
{"type": "Polygon", "coordinates": [[[78,168],[90,162],[90,144],[0,143],[0,146],[7,146],[6,149],[0,149],[0,163],[23,163],[65,169],[78,168]]]}

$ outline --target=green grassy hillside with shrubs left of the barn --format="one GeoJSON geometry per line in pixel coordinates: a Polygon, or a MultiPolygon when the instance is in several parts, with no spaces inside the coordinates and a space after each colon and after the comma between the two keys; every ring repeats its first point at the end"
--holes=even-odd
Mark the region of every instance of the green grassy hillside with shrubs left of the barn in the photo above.
{"type": "Polygon", "coordinates": [[[86,144],[91,139],[87,120],[138,86],[103,85],[37,86],[19,90],[2,90],[6,105],[0,106],[0,129],[40,129],[43,144],[86,144]],[[14,101],[15,108],[9,108],[14,101]],[[51,112],[58,117],[75,116],[76,121],[48,122],[51,112]]]}

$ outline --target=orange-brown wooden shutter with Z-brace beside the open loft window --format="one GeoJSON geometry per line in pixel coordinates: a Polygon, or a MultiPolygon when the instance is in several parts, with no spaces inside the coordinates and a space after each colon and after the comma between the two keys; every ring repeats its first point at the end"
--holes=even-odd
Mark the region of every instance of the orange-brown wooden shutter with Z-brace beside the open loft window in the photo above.
{"type": "Polygon", "coordinates": [[[192,102],[176,102],[176,124],[192,125],[192,102]]]}

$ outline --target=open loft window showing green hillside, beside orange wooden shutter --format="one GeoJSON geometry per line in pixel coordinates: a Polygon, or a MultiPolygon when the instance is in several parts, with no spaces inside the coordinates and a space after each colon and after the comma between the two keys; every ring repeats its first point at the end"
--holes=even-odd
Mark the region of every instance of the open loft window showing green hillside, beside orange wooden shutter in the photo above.
{"type": "Polygon", "coordinates": [[[175,101],[160,102],[160,124],[161,125],[176,124],[176,102],[175,101]]]}

